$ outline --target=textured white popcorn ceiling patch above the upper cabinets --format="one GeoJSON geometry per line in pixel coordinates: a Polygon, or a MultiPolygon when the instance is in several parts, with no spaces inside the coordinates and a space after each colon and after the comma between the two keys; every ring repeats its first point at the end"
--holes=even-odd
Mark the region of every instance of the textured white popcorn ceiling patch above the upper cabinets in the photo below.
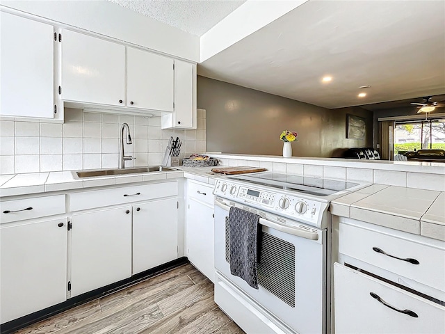
{"type": "Polygon", "coordinates": [[[170,26],[201,36],[245,0],[108,0],[170,26]]]}

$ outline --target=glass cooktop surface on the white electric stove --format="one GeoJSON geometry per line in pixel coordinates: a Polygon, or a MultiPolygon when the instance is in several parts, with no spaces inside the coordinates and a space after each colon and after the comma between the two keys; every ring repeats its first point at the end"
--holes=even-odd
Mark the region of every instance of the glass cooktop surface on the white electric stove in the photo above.
{"type": "Polygon", "coordinates": [[[314,196],[328,196],[359,185],[358,183],[352,182],[270,172],[238,175],[230,178],[250,184],[258,184],[286,191],[298,191],[314,196]]]}

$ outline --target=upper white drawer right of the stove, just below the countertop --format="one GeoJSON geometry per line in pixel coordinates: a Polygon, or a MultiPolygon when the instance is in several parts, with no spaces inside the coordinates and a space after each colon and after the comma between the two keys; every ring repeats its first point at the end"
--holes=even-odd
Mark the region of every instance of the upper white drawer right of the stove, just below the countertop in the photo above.
{"type": "Polygon", "coordinates": [[[445,243],[439,248],[398,234],[341,223],[339,253],[445,292],[445,243]]]}

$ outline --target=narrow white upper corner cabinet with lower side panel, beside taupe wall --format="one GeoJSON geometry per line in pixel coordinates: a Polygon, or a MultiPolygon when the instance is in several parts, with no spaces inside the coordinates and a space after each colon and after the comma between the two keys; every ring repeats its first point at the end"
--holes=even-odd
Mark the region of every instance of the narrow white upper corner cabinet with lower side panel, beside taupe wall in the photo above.
{"type": "Polygon", "coordinates": [[[196,129],[196,65],[175,61],[175,111],[162,116],[163,129],[196,129]]]}

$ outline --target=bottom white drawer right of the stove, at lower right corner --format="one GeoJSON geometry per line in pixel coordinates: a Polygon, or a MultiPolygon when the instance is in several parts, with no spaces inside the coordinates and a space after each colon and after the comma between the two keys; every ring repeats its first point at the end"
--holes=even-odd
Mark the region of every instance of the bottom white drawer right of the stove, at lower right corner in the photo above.
{"type": "Polygon", "coordinates": [[[445,333],[444,306],[338,263],[334,314],[336,334],[445,333]]]}

